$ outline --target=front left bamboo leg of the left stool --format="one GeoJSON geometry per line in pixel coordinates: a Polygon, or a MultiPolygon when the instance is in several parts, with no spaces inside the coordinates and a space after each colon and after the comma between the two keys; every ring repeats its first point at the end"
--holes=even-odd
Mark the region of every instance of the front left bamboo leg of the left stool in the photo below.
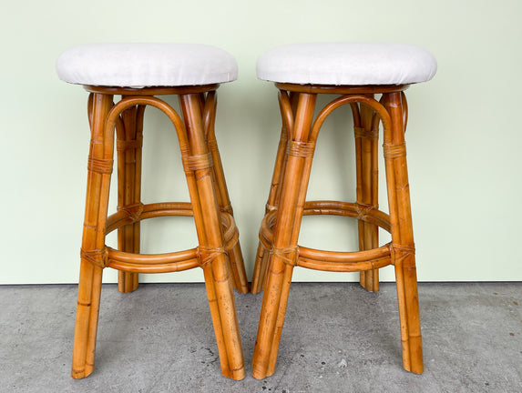
{"type": "Polygon", "coordinates": [[[97,264],[105,247],[108,191],[112,157],[104,156],[104,126],[112,96],[91,96],[91,144],[87,175],[87,198],[78,284],[77,319],[73,348],[72,377],[85,378],[94,369],[97,317],[102,267],[97,264]],[[110,165],[109,165],[110,163],[110,165]]]}

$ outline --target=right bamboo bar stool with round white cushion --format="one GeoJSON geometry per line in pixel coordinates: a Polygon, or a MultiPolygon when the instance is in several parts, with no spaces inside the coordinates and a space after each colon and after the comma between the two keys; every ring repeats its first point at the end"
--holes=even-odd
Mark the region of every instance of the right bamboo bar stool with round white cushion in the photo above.
{"type": "Polygon", "coordinates": [[[251,291],[264,288],[252,360],[253,376],[273,374],[294,267],[335,272],[361,271],[361,284],[378,290],[378,268],[394,265],[404,368],[423,372],[404,131],[404,90],[436,72],[424,49],[398,44],[298,44],[268,50],[257,75],[279,89],[281,140],[266,215],[261,223],[251,291]],[[318,95],[340,95],[313,118],[318,95]],[[380,95],[377,100],[374,95],[380,95]],[[357,201],[305,201],[312,156],[321,126],[333,110],[353,113],[357,201]],[[378,208],[377,145],[383,124],[389,214],[378,208]],[[302,216],[335,215],[358,220],[357,252],[298,246],[302,216]],[[392,241],[379,247],[378,229],[392,241]]]}

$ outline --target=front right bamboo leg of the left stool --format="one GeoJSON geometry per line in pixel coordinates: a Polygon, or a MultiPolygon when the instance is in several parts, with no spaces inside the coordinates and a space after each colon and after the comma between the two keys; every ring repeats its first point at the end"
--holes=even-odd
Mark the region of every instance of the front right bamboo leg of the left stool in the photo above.
{"type": "Polygon", "coordinates": [[[241,336],[199,99],[198,95],[179,96],[189,140],[189,146],[181,146],[181,152],[200,241],[201,265],[220,351],[221,371],[226,377],[242,379],[245,370],[241,336]]]}

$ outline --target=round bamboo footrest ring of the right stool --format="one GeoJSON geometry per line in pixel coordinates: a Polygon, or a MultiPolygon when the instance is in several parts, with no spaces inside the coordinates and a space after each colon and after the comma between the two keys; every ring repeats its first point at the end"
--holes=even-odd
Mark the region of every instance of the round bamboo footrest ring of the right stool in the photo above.
{"type": "MultiPolygon", "coordinates": [[[[390,217],[381,210],[357,203],[338,201],[310,201],[304,204],[303,216],[331,215],[353,217],[372,223],[390,232],[390,217]]],[[[266,250],[271,250],[273,227],[277,210],[268,213],[261,222],[260,240],[266,250]]],[[[355,272],[385,267],[392,263],[391,243],[382,247],[353,252],[323,251],[308,247],[298,247],[296,266],[314,270],[355,272]]]]}

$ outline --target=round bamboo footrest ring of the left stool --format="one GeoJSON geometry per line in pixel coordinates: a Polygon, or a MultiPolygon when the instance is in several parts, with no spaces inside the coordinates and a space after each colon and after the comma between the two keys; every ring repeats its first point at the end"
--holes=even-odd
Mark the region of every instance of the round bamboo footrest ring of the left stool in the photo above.
{"type": "MultiPolygon", "coordinates": [[[[106,235],[119,227],[154,217],[192,217],[194,213],[188,202],[169,202],[120,209],[107,217],[106,235]],[[137,210],[137,211],[135,211],[137,210]]],[[[225,239],[229,252],[239,240],[239,231],[228,212],[220,212],[225,239]]],[[[134,254],[107,247],[107,267],[134,273],[169,273],[200,267],[198,247],[166,254],[134,254]]]]}

